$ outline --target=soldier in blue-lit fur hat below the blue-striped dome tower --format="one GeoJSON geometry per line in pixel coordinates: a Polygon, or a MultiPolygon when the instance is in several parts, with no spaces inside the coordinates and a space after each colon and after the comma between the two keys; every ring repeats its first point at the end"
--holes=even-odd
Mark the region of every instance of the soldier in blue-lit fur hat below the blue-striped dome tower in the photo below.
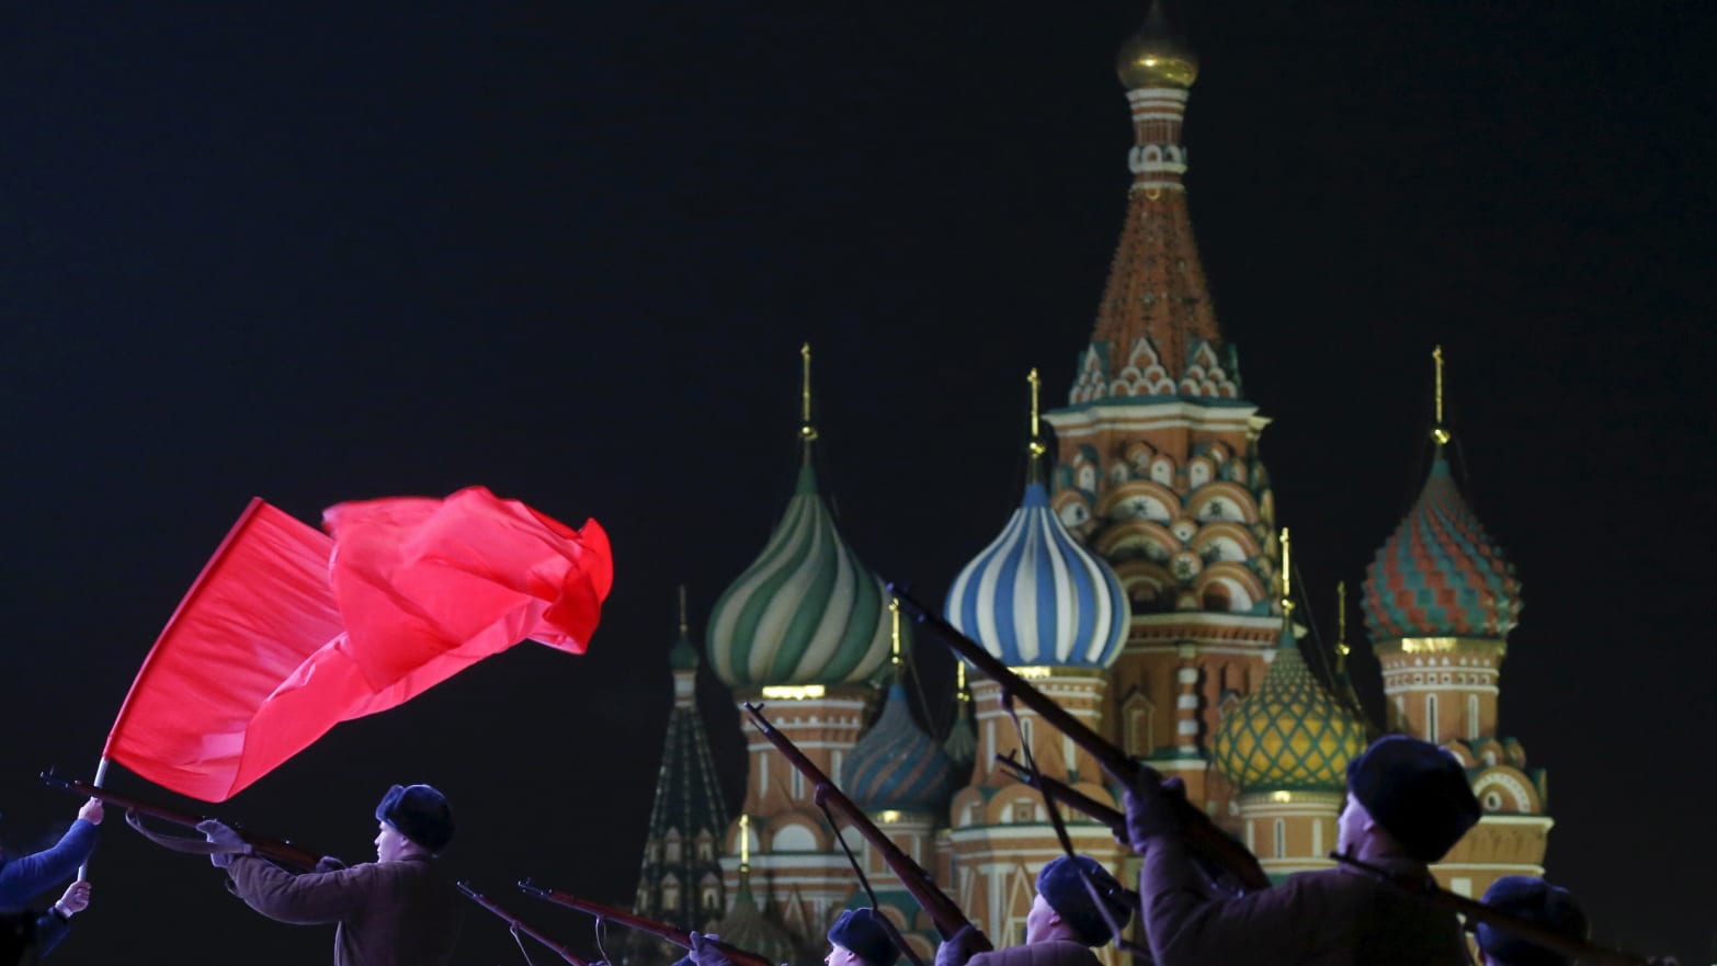
{"type": "Polygon", "coordinates": [[[1037,873],[1025,945],[972,952],[979,932],[967,925],[936,947],[936,966],[1097,966],[1092,947],[1114,939],[1111,923],[1121,928],[1130,915],[1126,889],[1097,860],[1059,856],[1037,873]],[[1094,889],[1102,908],[1092,899],[1094,889]]]}

